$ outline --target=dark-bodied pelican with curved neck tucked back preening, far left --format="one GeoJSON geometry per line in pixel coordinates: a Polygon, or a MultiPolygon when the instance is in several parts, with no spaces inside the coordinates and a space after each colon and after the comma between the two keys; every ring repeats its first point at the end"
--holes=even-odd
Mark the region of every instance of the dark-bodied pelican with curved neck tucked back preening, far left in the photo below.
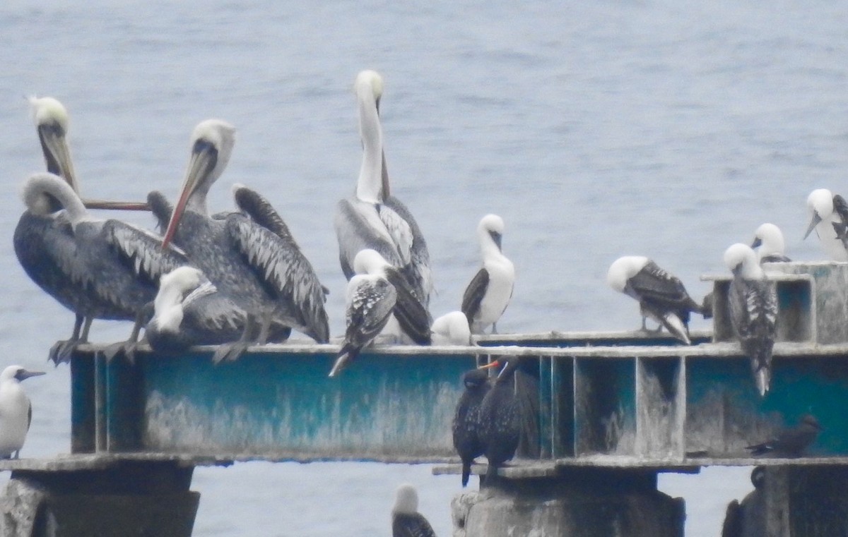
{"type": "Polygon", "coordinates": [[[95,219],[71,186],[54,174],[33,174],[24,186],[28,211],[44,218],[62,219],[56,232],[44,235],[40,278],[60,304],[86,318],[80,334],[75,326],[70,340],[54,347],[54,361],[70,357],[76,345],[87,341],[91,319],[133,320],[132,335],[124,347],[132,350],[144,318],[144,309],[156,296],[159,276],[187,263],[174,249],[163,249],[158,236],[114,219],[95,219]],[[64,208],[51,213],[53,202],[64,208]]]}

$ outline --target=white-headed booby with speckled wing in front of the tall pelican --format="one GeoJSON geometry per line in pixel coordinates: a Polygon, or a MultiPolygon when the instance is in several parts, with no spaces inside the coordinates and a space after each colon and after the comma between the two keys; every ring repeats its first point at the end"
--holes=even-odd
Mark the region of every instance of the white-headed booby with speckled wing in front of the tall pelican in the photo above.
{"type": "Polygon", "coordinates": [[[331,377],[378,335],[393,343],[431,342],[430,315],[398,269],[370,249],[356,254],[354,269],[345,296],[344,341],[331,377]]]}

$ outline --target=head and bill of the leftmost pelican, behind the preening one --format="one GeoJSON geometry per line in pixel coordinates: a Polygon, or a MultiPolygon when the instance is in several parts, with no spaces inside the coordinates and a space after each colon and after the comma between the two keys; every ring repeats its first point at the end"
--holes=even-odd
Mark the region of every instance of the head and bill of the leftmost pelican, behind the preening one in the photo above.
{"type": "Polygon", "coordinates": [[[67,139],[68,111],[53,97],[27,97],[27,99],[32,109],[32,119],[38,130],[38,140],[42,144],[47,171],[59,175],[68,181],[75,192],[79,192],[67,139]]]}

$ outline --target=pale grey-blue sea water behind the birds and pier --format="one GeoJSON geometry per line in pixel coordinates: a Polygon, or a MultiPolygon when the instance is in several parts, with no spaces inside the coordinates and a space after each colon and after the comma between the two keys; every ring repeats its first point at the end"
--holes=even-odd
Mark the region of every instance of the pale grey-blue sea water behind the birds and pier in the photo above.
{"type": "MultiPolygon", "coordinates": [[[[359,169],[351,86],[360,69],[385,80],[389,172],[430,246],[434,315],[459,307],[477,269],[477,221],[505,219],[518,280],[503,332],[637,327],[635,303],[605,284],[624,254],[653,257],[694,296],[708,290],[700,275],[722,272],[724,249],[762,222],[784,230],[790,257],[821,258],[801,241],[806,195],[840,191],[848,169],[840,3],[78,4],[0,5],[3,365],[46,368],[47,349],[73,323],[27,280],[11,246],[20,184],[43,169],[26,95],[68,108],[91,197],[176,196],[193,126],[236,125],[210,205],[230,208],[237,181],[271,199],[332,290],[333,334],[343,329],[344,280],[332,211],[359,169]]],[[[129,328],[98,322],[92,340],[129,328]]],[[[25,457],[70,449],[69,382],[66,366],[27,381],[25,457]]],[[[748,471],[667,474],[661,489],[686,498],[689,536],[713,536],[726,503],[750,490],[748,471]]],[[[455,476],[331,462],[198,468],[195,534],[388,535],[404,481],[449,535],[455,476]]]]}

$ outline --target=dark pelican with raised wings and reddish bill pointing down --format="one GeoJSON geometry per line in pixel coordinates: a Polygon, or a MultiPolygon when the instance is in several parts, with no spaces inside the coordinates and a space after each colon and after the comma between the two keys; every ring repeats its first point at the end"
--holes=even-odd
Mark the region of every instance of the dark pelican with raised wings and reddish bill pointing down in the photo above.
{"type": "Polygon", "coordinates": [[[192,265],[247,313],[242,338],[220,346],[213,359],[236,359],[250,343],[264,344],[272,323],[326,343],[325,288],[271,203],[244,185],[233,185],[240,211],[209,216],[206,195],[226,168],[234,142],[235,128],[219,119],[195,127],[186,177],[164,240],[183,248],[192,265]],[[257,322],[259,335],[254,335],[257,322]]]}

